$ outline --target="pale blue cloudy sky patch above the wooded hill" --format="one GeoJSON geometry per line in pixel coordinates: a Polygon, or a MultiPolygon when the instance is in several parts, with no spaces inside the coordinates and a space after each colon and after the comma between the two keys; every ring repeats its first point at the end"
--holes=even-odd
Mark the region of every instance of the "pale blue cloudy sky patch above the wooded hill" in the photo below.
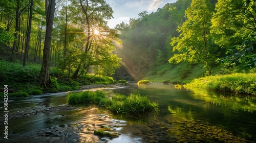
{"type": "Polygon", "coordinates": [[[114,28],[117,24],[129,23],[130,18],[138,18],[138,14],[147,11],[148,14],[156,12],[167,3],[177,0],[105,0],[114,11],[114,18],[108,20],[108,26],[114,28]]]}

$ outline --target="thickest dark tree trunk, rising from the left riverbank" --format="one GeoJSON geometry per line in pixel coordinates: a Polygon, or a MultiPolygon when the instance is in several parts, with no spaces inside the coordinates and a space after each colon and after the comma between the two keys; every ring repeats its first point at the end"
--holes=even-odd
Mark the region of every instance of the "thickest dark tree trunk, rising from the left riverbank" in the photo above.
{"type": "Polygon", "coordinates": [[[44,55],[42,56],[42,68],[39,75],[39,84],[43,88],[50,87],[50,56],[51,56],[51,37],[53,28],[53,18],[55,11],[55,0],[46,0],[46,37],[44,44],[44,55]]]}

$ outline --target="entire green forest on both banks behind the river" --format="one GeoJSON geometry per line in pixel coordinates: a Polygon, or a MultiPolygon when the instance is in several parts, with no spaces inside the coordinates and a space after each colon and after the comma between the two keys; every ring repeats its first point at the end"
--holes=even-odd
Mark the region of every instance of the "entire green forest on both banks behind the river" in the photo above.
{"type": "Polygon", "coordinates": [[[255,93],[255,4],[178,0],[111,29],[114,11],[104,0],[3,0],[0,84],[32,94],[122,79],[184,84],[251,73],[245,82],[255,93]]]}

